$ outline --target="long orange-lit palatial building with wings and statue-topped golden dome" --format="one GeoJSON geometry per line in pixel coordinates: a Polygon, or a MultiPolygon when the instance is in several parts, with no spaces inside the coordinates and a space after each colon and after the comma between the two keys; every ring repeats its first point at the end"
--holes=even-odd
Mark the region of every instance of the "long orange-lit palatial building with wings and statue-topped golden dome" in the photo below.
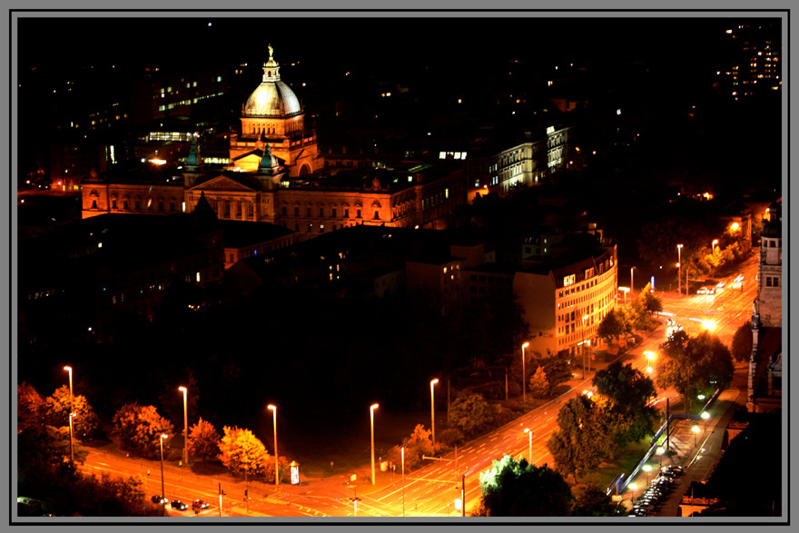
{"type": "Polygon", "coordinates": [[[84,218],[192,212],[204,196],[220,220],[270,222],[302,241],[356,224],[440,229],[466,202],[463,173],[453,162],[400,163],[393,169],[353,165],[322,176],[315,133],[306,130],[300,101],[281,81],[271,47],[241,121],[242,132],[231,136],[226,170],[207,170],[192,136],[180,176],[87,183],[84,218]]]}

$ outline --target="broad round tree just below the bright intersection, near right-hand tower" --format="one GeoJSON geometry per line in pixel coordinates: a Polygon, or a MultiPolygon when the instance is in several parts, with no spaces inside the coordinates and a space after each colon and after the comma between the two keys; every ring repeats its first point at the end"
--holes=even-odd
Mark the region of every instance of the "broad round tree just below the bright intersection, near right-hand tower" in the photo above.
{"type": "Polygon", "coordinates": [[[733,379],[730,350],[707,331],[696,337],[676,331],[660,348],[657,385],[677,390],[685,397],[686,407],[697,391],[724,390],[733,379]]]}

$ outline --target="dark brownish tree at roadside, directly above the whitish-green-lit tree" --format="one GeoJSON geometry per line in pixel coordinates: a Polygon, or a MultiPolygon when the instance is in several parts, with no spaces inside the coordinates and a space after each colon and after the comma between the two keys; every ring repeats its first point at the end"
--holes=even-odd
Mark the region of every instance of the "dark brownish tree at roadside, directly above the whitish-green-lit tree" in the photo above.
{"type": "Polygon", "coordinates": [[[555,468],[563,476],[596,469],[611,449],[607,417],[597,403],[580,394],[557,413],[557,429],[547,441],[555,468]]]}

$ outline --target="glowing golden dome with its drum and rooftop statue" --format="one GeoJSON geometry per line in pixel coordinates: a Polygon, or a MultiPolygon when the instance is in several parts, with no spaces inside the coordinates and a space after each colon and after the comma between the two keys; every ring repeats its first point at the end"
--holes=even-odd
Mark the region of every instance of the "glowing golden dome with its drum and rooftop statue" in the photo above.
{"type": "Polygon", "coordinates": [[[272,54],[270,45],[261,84],[242,105],[242,133],[231,136],[231,165],[241,172],[255,172],[268,144],[289,176],[308,175],[324,166],[316,135],[305,130],[300,100],[281,81],[281,66],[272,54]]]}

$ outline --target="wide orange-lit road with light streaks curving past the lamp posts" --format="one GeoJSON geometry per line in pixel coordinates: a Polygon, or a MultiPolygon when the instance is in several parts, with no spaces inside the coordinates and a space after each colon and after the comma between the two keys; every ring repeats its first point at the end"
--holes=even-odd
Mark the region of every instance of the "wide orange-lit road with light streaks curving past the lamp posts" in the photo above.
{"type": "MultiPolygon", "coordinates": [[[[747,260],[739,271],[725,278],[725,288],[715,295],[677,295],[664,293],[664,313],[681,323],[685,330],[696,335],[712,328],[725,344],[730,345],[735,330],[751,316],[752,301],[756,297],[756,255],[747,260]],[[743,286],[733,283],[735,275],[743,272],[743,286]]],[[[646,372],[644,352],[658,351],[666,340],[666,328],[649,334],[634,349],[628,350],[625,360],[646,372]]],[[[582,374],[580,373],[580,376],[582,374]]],[[[274,488],[262,483],[250,483],[250,500],[243,498],[244,483],[229,476],[196,476],[184,469],[169,465],[165,470],[164,486],[167,498],[180,498],[191,502],[202,498],[212,507],[202,516],[220,516],[219,489],[227,493],[222,498],[222,516],[266,517],[457,517],[460,511],[455,500],[461,498],[465,479],[467,510],[475,508],[479,499],[479,472],[488,469],[493,459],[505,454],[515,458],[528,457],[529,438],[524,429],[533,431],[532,462],[536,465],[554,463],[547,449],[547,439],[557,427],[557,412],[568,400],[583,390],[590,389],[593,372],[586,380],[573,380],[571,388],[554,400],[531,410],[488,435],[469,442],[468,445],[439,458],[430,459],[429,465],[408,472],[404,479],[396,472],[394,481],[377,491],[358,494],[357,487],[340,481],[314,484],[313,489],[286,490],[276,495],[274,488]],[[464,478],[465,476],[465,478],[464,478]],[[353,501],[352,498],[358,498],[353,501]],[[357,504],[357,508],[356,508],[357,504]]],[[[674,391],[660,391],[659,398],[678,400],[674,391]]],[[[161,493],[159,461],[129,459],[92,452],[83,467],[89,471],[105,471],[130,475],[141,473],[147,478],[147,498],[161,493]]],[[[168,507],[168,506],[167,506],[168,507]]],[[[169,511],[171,515],[192,516],[189,511],[169,511]]]]}

